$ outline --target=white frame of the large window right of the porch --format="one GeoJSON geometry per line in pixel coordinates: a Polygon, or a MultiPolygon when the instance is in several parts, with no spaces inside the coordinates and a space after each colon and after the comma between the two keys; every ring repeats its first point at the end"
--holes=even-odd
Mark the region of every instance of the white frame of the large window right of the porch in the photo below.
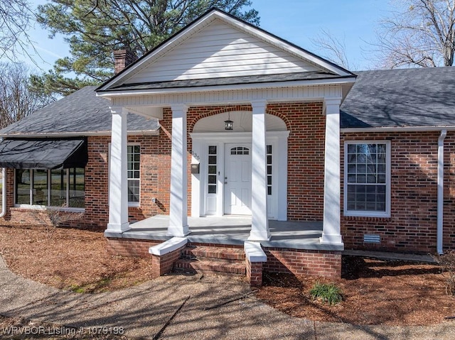
{"type": "Polygon", "coordinates": [[[390,217],[390,197],[391,197],[391,143],[390,141],[345,141],[344,142],[344,185],[343,185],[343,214],[344,216],[362,217],[390,217]],[[348,146],[358,144],[385,144],[385,212],[368,210],[348,210],[348,146]]]}

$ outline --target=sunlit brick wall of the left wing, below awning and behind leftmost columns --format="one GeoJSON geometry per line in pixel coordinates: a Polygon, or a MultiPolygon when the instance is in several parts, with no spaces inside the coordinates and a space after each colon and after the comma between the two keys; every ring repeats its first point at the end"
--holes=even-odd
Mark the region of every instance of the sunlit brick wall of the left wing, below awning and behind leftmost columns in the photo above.
{"type": "MultiPolygon", "coordinates": [[[[148,216],[166,213],[159,204],[151,202],[159,197],[159,150],[158,136],[129,136],[129,143],[141,146],[141,204],[140,207],[129,208],[129,219],[139,221],[148,216]]],[[[108,148],[109,136],[88,138],[88,163],[85,167],[85,213],[83,219],[71,222],[70,226],[104,230],[109,221],[109,168],[108,148]]],[[[167,172],[161,177],[169,177],[167,172]]],[[[166,181],[166,179],[165,179],[166,181]]],[[[164,196],[168,195],[168,187],[164,187],[164,196]]],[[[14,207],[14,170],[7,170],[7,211],[0,219],[1,224],[43,224],[39,210],[14,207]]]]}

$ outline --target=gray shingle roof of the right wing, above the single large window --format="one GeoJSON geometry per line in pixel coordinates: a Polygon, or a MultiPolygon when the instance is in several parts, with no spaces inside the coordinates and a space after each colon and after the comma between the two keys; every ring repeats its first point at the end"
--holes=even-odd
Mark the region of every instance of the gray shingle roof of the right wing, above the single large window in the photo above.
{"type": "Polygon", "coordinates": [[[341,128],[455,126],[455,67],[358,72],[341,128]]]}

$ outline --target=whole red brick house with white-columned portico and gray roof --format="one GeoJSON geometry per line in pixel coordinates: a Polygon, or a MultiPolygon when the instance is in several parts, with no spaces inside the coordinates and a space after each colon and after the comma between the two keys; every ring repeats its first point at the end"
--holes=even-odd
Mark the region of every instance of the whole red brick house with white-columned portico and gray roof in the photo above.
{"type": "Polygon", "coordinates": [[[114,57],[105,84],[0,131],[2,223],[83,211],[156,275],[240,249],[253,284],[340,275],[344,248],[453,248],[451,67],[357,76],[217,9],[114,57]]]}

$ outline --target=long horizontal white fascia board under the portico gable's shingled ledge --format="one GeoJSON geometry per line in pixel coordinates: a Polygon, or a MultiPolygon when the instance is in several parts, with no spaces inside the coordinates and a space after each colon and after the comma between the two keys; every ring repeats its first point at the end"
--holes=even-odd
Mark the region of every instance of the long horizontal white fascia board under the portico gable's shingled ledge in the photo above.
{"type": "Polygon", "coordinates": [[[335,79],[312,79],[312,80],[295,80],[291,82],[261,82],[252,84],[234,84],[234,85],[213,85],[200,87],[178,87],[171,89],[141,89],[141,90],[119,90],[97,93],[97,97],[119,97],[130,95],[149,95],[149,94],[186,94],[192,92],[219,92],[235,91],[248,89],[283,89],[286,87],[304,87],[319,85],[336,85],[354,83],[355,77],[344,77],[335,79]]]}

